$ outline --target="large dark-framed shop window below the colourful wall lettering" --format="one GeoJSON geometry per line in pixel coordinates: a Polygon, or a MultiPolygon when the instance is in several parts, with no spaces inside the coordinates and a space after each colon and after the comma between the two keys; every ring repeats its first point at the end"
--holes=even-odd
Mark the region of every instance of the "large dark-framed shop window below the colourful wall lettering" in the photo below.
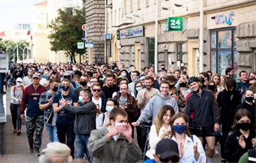
{"type": "Polygon", "coordinates": [[[225,75],[225,69],[234,69],[237,78],[237,56],[235,27],[210,30],[210,69],[213,74],[225,75]]]}

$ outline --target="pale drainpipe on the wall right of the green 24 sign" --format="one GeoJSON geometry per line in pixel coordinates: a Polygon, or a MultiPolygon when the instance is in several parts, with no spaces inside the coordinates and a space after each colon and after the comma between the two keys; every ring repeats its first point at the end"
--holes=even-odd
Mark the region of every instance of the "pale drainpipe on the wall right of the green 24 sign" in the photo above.
{"type": "Polygon", "coordinates": [[[199,46],[199,69],[203,72],[203,1],[200,1],[200,46],[199,46]]]}

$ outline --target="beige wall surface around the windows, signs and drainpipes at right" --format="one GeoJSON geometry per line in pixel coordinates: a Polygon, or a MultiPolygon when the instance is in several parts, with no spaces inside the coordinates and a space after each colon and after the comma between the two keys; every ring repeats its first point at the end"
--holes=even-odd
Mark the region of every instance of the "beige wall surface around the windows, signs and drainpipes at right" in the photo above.
{"type": "MultiPolygon", "coordinates": [[[[189,76],[197,75],[198,60],[196,60],[196,52],[199,48],[199,28],[200,28],[200,0],[112,0],[113,9],[120,9],[121,20],[118,26],[119,30],[132,28],[136,26],[144,26],[144,37],[142,38],[127,38],[119,40],[122,48],[119,49],[119,62],[126,66],[134,64],[136,49],[138,44],[143,45],[141,52],[142,62],[144,66],[148,66],[148,43],[146,38],[156,37],[155,35],[155,18],[156,18],[156,1],[159,2],[158,7],[158,54],[159,66],[161,64],[169,65],[169,56],[172,58],[172,65],[169,67],[171,72],[178,68],[177,60],[177,45],[182,45],[183,64],[189,68],[189,76]],[[121,6],[118,6],[120,4],[121,6]],[[149,4],[148,4],[149,2],[149,4]],[[176,7],[174,4],[181,4],[184,7],[176,7]],[[168,8],[166,11],[162,8],[168,8]],[[134,17],[134,14],[140,18],[134,17]],[[130,18],[132,18],[132,20],[130,18]],[[168,17],[183,17],[186,18],[186,29],[183,31],[162,31],[162,23],[167,23],[168,17]],[[143,20],[141,19],[143,18],[143,20]],[[131,23],[124,25],[124,23],[131,23]],[[145,42],[145,43],[144,43],[145,42]],[[135,50],[134,50],[135,49],[135,50]]],[[[256,22],[256,1],[255,0],[205,0],[203,4],[204,23],[203,23],[203,71],[210,70],[210,30],[220,28],[236,28],[237,51],[238,55],[238,73],[245,69],[247,72],[256,70],[256,50],[255,50],[255,22],[256,22]],[[228,16],[230,11],[233,11],[233,21],[231,25],[227,23],[215,23],[215,16],[224,14],[228,16]]],[[[107,9],[107,17],[112,20],[112,10],[107,9]]],[[[115,24],[117,25],[117,24],[115,24]]],[[[107,22],[108,31],[116,30],[110,22],[107,22]],[[112,26],[112,28],[110,28],[112,26]]],[[[113,50],[112,50],[113,51],[113,50]]],[[[199,73],[199,72],[198,72],[199,73]]]]}

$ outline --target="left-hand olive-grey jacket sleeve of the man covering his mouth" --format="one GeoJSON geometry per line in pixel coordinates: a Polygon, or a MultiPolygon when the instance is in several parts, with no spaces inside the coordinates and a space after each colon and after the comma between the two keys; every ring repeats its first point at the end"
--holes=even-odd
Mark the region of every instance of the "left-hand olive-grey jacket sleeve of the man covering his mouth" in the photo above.
{"type": "Polygon", "coordinates": [[[102,154],[104,151],[105,146],[108,144],[107,142],[109,141],[107,139],[107,135],[101,138],[97,137],[97,132],[100,131],[92,130],[87,143],[87,149],[89,150],[90,154],[92,154],[92,157],[99,157],[100,154],[102,154]]]}

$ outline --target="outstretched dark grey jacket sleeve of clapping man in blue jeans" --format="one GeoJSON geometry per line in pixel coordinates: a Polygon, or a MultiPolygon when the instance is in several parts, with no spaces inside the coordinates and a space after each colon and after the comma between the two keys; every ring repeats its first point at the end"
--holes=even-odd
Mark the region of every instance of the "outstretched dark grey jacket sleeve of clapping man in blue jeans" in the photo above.
{"type": "Polygon", "coordinates": [[[73,103],[74,106],[65,104],[64,108],[65,110],[70,111],[71,113],[95,113],[96,112],[96,106],[93,105],[94,103],[85,103],[83,106],[75,106],[75,103],[73,103]]]}

